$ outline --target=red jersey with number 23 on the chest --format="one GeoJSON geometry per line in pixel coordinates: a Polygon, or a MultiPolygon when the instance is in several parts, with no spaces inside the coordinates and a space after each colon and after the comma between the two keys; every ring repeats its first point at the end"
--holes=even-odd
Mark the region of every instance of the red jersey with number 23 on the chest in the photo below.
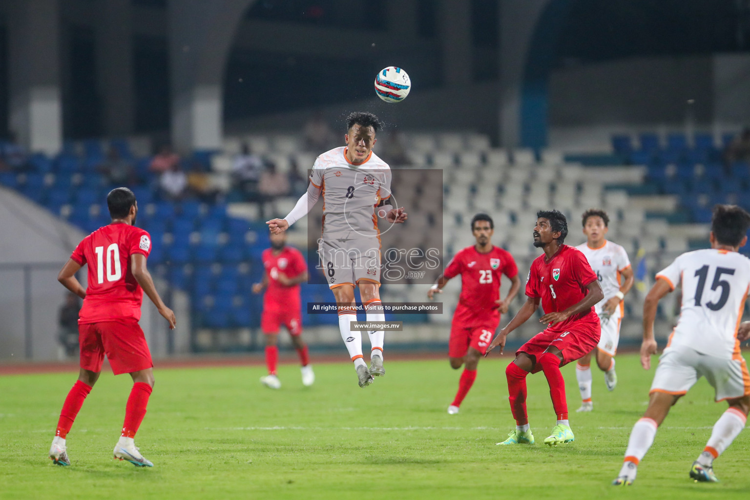
{"type": "Polygon", "coordinates": [[[458,274],[461,275],[461,294],[454,321],[466,327],[499,322],[500,312],[495,301],[500,298],[500,277],[505,274],[512,278],[518,274],[513,256],[499,247],[479,253],[472,245],[453,256],[443,276],[452,278],[458,274]]]}

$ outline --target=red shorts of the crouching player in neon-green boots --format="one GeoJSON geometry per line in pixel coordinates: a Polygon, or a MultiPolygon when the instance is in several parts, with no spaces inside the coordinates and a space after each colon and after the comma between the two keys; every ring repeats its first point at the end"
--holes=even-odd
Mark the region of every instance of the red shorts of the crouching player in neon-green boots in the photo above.
{"type": "MultiPolygon", "coordinates": [[[[601,325],[598,321],[578,321],[565,325],[564,328],[553,325],[531,337],[528,342],[520,346],[516,355],[519,352],[525,352],[529,356],[538,358],[547,350],[547,347],[556,347],[562,352],[562,364],[560,364],[562,367],[591,352],[599,343],[599,337],[601,337],[601,325]]],[[[535,363],[532,373],[540,370],[541,366],[535,363]]]]}

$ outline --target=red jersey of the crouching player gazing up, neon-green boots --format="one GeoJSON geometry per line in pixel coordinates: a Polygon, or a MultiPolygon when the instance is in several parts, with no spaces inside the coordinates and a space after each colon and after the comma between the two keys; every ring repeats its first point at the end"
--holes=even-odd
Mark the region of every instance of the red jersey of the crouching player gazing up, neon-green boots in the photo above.
{"type": "MultiPolygon", "coordinates": [[[[545,262],[545,257],[542,253],[531,263],[526,295],[541,297],[544,313],[559,313],[582,301],[589,294],[586,286],[598,278],[586,256],[577,248],[562,245],[549,262],[545,262]]],[[[569,317],[565,322],[556,323],[554,327],[563,328],[589,314],[596,316],[593,307],[587,312],[569,317]]]]}

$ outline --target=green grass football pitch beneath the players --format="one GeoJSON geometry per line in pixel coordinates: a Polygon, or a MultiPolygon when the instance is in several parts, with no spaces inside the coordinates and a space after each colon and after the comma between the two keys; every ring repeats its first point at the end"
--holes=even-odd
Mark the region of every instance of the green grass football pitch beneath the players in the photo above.
{"type": "MultiPolygon", "coordinates": [[[[695,484],[688,469],[725,403],[705,381],[659,429],[635,484],[615,488],[628,434],[646,408],[653,369],[617,358],[613,393],[594,372],[594,412],[567,379],[576,440],[541,444],[554,415],[544,376],[529,376],[533,446],[504,448],[514,422],[505,365],[479,365],[459,415],[448,415],[460,371],[446,361],[388,361],[386,377],[361,389],[350,364],[314,365],[302,387],[284,365],[280,391],[258,382],[261,367],[155,369],[156,386],[136,445],[153,469],[112,460],[130,391],[103,373],[68,435],[70,467],[53,466],[49,443],[75,374],[0,377],[0,498],[39,499],[726,499],[750,490],[750,433],[715,463],[720,484],[695,484]]],[[[655,361],[655,360],[654,360],[655,361]]]]}

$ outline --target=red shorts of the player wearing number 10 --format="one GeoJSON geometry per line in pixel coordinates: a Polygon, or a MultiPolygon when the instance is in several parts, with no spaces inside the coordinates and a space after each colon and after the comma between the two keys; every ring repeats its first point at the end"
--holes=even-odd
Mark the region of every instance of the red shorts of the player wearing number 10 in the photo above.
{"type": "Polygon", "coordinates": [[[101,372],[104,355],[115,375],[151,368],[151,352],[135,319],[78,325],[81,368],[101,372]]]}

